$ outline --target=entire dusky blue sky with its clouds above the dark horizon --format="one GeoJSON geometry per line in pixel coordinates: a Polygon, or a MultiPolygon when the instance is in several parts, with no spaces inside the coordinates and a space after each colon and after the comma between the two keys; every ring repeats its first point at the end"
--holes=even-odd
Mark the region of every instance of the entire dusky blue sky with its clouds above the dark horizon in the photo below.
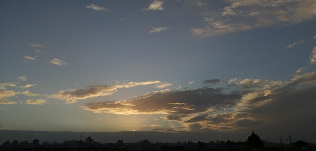
{"type": "Polygon", "coordinates": [[[315,18],[313,0],[1,1],[0,129],[316,142],[315,18]]]}

